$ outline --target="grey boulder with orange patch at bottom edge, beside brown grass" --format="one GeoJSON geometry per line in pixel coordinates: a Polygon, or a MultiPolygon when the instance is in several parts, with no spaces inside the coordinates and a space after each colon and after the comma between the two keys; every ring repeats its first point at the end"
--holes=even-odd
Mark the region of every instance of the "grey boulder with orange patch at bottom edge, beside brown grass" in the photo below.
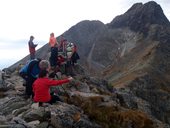
{"type": "Polygon", "coordinates": [[[57,128],[99,128],[99,125],[92,123],[79,108],[65,103],[57,104],[55,108],[52,106],[51,124],[57,128]]]}

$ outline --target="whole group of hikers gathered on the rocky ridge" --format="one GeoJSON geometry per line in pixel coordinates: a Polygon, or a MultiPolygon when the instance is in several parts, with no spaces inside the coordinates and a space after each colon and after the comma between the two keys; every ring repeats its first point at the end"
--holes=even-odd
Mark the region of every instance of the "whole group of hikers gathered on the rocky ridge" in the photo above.
{"type": "Polygon", "coordinates": [[[77,53],[77,47],[63,37],[60,43],[58,43],[54,33],[51,33],[49,39],[51,54],[48,61],[35,58],[37,44],[34,44],[33,40],[34,37],[30,36],[28,42],[30,61],[19,71],[20,76],[25,80],[24,96],[25,98],[32,98],[39,105],[42,105],[42,103],[52,104],[56,101],[62,101],[59,96],[50,91],[50,87],[69,83],[73,80],[71,77],[72,73],[68,69],[72,69],[72,66],[80,59],[77,53]],[[59,78],[57,73],[61,73],[62,66],[65,69],[62,73],[70,76],[60,80],[54,79],[56,77],[59,78]]]}

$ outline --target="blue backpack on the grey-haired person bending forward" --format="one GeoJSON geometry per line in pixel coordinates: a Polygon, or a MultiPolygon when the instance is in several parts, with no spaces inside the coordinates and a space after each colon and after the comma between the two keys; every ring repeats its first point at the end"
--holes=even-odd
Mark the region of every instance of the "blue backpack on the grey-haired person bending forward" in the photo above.
{"type": "Polygon", "coordinates": [[[31,72],[34,68],[34,66],[36,64],[38,64],[40,62],[40,60],[32,60],[29,63],[27,63],[24,67],[21,68],[21,70],[19,71],[19,75],[23,78],[23,79],[27,79],[29,76],[31,76],[31,72]]]}

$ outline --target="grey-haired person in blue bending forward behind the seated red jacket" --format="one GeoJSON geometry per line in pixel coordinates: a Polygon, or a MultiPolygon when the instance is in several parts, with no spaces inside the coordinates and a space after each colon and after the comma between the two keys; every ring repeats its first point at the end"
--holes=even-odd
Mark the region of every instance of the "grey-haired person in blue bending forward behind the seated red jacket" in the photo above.
{"type": "Polygon", "coordinates": [[[25,84],[25,98],[33,97],[32,84],[38,78],[40,70],[48,70],[50,68],[49,61],[34,59],[28,62],[19,71],[20,76],[26,81],[25,84]]]}

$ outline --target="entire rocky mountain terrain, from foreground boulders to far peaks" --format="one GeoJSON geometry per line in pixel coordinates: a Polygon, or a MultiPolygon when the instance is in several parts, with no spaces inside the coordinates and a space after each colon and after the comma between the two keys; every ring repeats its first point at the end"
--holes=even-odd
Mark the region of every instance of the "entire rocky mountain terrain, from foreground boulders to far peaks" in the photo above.
{"type": "MultiPolygon", "coordinates": [[[[158,3],[136,3],[108,24],[82,21],[62,35],[81,58],[74,81],[55,88],[64,102],[24,99],[18,70],[27,56],[0,73],[0,127],[170,128],[170,22],[158,3]]],[[[49,59],[48,44],[37,56],[49,59]]]]}

